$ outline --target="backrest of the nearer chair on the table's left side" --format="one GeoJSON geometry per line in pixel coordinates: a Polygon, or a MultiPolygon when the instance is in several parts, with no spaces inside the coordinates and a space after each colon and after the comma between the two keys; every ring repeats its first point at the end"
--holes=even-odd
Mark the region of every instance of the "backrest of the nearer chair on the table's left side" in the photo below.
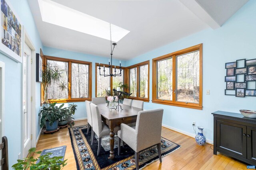
{"type": "Polygon", "coordinates": [[[93,131],[98,136],[102,131],[102,120],[100,116],[100,111],[98,106],[96,106],[95,104],[91,103],[90,106],[91,106],[91,113],[92,113],[93,131]]]}

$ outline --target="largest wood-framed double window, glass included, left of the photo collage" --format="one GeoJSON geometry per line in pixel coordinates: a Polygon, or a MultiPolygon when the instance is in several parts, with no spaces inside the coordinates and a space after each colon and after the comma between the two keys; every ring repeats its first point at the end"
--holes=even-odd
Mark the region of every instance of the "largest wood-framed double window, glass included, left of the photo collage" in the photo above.
{"type": "Polygon", "coordinates": [[[152,59],[152,102],[202,109],[202,44],[152,59]]]}

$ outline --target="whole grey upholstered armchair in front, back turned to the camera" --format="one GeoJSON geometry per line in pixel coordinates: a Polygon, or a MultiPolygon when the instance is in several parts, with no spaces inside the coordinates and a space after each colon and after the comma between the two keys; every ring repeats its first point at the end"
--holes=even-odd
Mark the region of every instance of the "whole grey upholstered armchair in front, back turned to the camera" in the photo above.
{"type": "Polygon", "coordinates": [[[161,130],[164,109],[139,111],[136,126],[130,127],[121,124],[118,134],[118,155],[120,155],[121,140],[129,145],[135,152],[136,169],[139,169],[139,152],[157,145],[160,162],[161,157],[161,130]]]}

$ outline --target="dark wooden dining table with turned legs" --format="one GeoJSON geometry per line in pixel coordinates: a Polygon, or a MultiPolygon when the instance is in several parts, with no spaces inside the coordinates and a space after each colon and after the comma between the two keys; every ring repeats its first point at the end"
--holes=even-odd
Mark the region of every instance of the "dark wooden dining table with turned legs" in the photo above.
{"type": "Polygon", "coordinates": [[[137,115],[139,111],[142,111],[143,109],[132,107],[128,105],[119,104],[122,106],[121,110],[119,108],[119,111],[116,109],[110,109],[106,106],[106,104],[97,104],[101,119],[104,123],[106,123],[110,129],[110,159],[114,159],[114,128],[121,125],[121,123],[134,123],[136,122],[137,115]]]}

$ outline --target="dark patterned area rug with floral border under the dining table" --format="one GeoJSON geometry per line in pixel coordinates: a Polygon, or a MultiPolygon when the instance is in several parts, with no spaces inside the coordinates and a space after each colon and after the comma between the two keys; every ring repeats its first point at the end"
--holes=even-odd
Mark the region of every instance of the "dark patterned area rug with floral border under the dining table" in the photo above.
{"type": "MultiPolygon", "coordinates": [[[[90,130],[91,131],[91,130],[90,130]]],[[[118,139],[115,138],[114,153],[115,158],[111,160],[109,158],[109,137],[105,139],[102,138],[100,154],[97,156],[98,141],[94,140],[94,144],[91,145],[90,137],[91,133],[87,133],[87,125],[70,127],[69,134],[72,143],[72,148],[74,151],[74,156],[76,159],[77,170],[132,170],[136,169],[134,160],[134,150],[132,150],[128,145],[121,147],[121,153],[118,155],[117,142],[118,139]],[[107,149],[105,151],[105,149],[107,149]]],[[[162,137],[161,139],[161,153],[162,157],[170,154],[176,149],[179,149],[180,145],[173,143],[162,137]]],[[[142,150],[139,155],[139,166],[140,169],[148,164],[159,160],[157,147],[150,147],[148,149],[142,150]]],[[[163,160],[164,161],[164,160],[163,160]]]]}

